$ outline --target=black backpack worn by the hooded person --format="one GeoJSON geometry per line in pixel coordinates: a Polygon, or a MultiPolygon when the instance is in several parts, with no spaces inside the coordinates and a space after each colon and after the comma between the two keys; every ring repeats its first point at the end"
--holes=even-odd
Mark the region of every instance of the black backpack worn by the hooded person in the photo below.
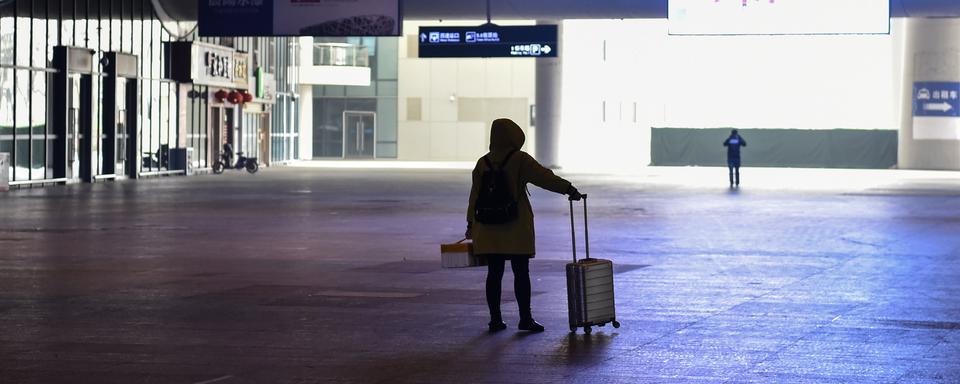
{"type": "Polygon", "coordinates": [[[495,168],[487,156],[483,161],[487,163],[487,170],[483,172],[480,181],[480,193],[477,196],[474,219],[482,224],[505,224],[517,219],[517,199],[510,191],[507,173],[503,171],[513,153],[510,151],[503,159],[500,168],[495,168]]]}

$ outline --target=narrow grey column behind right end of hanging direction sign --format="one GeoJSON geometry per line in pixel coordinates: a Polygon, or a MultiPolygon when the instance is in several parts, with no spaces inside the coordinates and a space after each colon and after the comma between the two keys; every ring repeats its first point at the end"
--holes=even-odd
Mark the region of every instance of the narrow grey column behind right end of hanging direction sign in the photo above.
{"type": "Polygon", "coordinates": [[[538,24],[557,24],[556,58],[538,58],[536,68],[536,135],[537,160],[545,167],[559,168],[560,112],[563,90],[563,22],[560,20],[538,21],[538,24]]]}

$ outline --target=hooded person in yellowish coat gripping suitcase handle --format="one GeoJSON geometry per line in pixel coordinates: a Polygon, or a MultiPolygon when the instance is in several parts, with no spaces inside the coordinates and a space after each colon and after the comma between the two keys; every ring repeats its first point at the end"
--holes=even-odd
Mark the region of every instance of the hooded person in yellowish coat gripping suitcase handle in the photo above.
{"type": "Polygon", "coordinates": [[[500,285],[504,266],[510,260],[513,269],[513,287],[520,309],[518,328],[542,332],[543,325],[533,319],[530,310],[530,259],[534,257],[535,237],[533,209],[527,194],[527,183],[556,193],[567,194],[579,200],[580,192],[569,181],[554,175],[528,153],[521,151],[526,140],[523,130],[510,119],[497,119],[490,128],[490,152],[477,160],[473,168],[473,186],[467,209],[466,237],[473,239],[473,253],[487,258],[487,306],[490,309],[491,332],[507,328],[500,314],[500,285]],[[490,165],[501,170],[508,190],[517,203],[515,219],[503,224],[484,224],[476,221],[477,199],[484,172],[490,165]]]}

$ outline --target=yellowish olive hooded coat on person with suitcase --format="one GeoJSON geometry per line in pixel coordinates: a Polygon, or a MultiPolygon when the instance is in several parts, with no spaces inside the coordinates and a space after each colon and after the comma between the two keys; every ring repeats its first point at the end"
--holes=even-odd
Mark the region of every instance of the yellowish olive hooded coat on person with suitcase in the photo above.
{"type": "Polygon", "coordinates": [[[565,193],[570,182],[554,175],[553,171],[540,165],[528,153],[520,151],[526,140],[523,130],[511,120],[497,119],[490,129],[490,161],[500,167],[511,150],[517,150],[507,162],[504,172],[512,182],[511,190],[517,198],[517,220],[506,224],[486,225],[474,221],[474,207],[480,190],[483,172],[487,170],[483,158],[473,168],[473,187],[467,208],[467,225],[473,235],[473,253],[476,255],[504,254],[529,255],[536,253],[536,237],[533,228],[533,209],[527,195],[527,183],[557,193],[565,193]]]}

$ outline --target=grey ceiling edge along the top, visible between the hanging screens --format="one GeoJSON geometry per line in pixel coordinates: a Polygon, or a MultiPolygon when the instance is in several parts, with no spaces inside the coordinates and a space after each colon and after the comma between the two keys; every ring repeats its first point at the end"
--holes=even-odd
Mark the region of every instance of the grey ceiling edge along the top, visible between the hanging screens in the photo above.
{"type": "MultiPolygon", "coordinates": [[[[153,0],[178,20],[196,20],[196,0],[153,0]]],[[[483,0],[402,0],[407,20],[485,19],[483,0]]],[[[497,19],[634,19],[667,17],[667,0],[490,0],[497,19]]],[[[890,0],[893,17],[960,17],[958,0],[890,0]]]]}

